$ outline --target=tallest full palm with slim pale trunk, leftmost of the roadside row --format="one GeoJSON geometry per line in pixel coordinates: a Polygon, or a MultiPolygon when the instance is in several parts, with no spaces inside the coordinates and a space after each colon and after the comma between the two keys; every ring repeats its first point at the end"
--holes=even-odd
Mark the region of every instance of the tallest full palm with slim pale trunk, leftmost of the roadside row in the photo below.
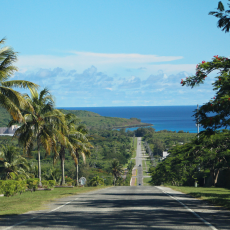
{"type": "MultiPolygon", "coordinates": [[[[31,96],[25,95],[33,110],[22,110],[25,122],[16,130],[14,136],[18,136],[18,141],[23,145],[24,152],[31,153],[34,145],[38,152],[38,178],[41,183],[41,162],[40,150],[43,147],[46,154],[53,150],[56,154],[56,139],[65,145],[63,130],[65,129],[63,114],[54,109],[54,100],[49,91],[45,88],[40,93],[30,89],[31,96]]],[[[15,124],[15,122],[12,121],[15,124]]]]}

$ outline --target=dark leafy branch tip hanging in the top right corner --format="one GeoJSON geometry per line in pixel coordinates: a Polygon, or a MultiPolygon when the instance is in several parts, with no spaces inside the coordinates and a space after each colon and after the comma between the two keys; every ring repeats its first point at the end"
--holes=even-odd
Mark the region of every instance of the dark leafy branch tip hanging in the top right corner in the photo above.
{"type": "MultiPolygon", "coordinates": [[[[230,8],[229,3],[228,3],[228,6],[230,8]]],[[[221,1],[219,1],[218,3],[217,10],[218,11],[209,12],[209,15],[214,15],[215,17],[219,18],[217,22],[217,27],[222,28],[222,31],[225,31],[225,33],[227,33],[229,32],[229,29],[230,29],[230,16],[229,16],[230,10],[225,10],[224,5],[221,1]]]]}

